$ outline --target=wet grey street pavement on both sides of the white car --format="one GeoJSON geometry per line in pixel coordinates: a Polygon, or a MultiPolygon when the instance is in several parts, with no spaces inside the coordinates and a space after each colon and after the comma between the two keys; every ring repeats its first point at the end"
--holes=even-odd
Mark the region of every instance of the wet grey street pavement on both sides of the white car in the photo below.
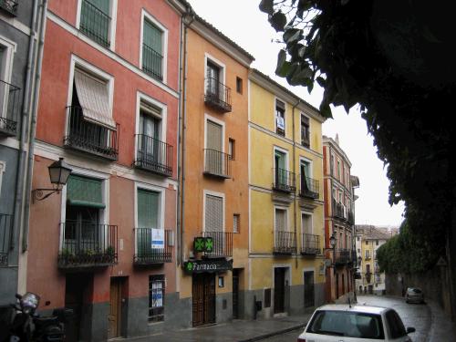
{"type": "MultiPolygon", "coordinates": [[[[409,334],[413,342],[455,342],[455,326],[437,306],[427,300],[426,304],[406,304],[401,297],[383,295],[358,295],[358,303],[394,308],[404,326],[413,326],[416,332],[409,334]]],[[[129,341],[163,342],[295,342],[311,315],[285,316],[273,319],[233,320],[233,322],[199,328],[165,331],[150,337],[128,338],[129,341]]]]}

